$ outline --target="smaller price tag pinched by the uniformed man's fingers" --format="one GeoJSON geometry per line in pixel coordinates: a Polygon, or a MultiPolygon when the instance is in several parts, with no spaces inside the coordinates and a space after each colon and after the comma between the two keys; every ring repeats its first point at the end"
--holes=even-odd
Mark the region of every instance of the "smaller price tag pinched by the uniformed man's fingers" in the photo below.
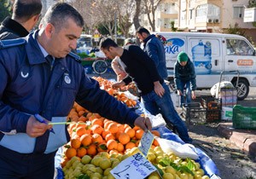
{"type": "Polygon", "coordinates": [[[154,135],[148,130],[148,132],[144,132],[143,137],[138,145],[138,148],[143,153],[145,157],[148,155],[148,150],[154,141],[154,135]]]}

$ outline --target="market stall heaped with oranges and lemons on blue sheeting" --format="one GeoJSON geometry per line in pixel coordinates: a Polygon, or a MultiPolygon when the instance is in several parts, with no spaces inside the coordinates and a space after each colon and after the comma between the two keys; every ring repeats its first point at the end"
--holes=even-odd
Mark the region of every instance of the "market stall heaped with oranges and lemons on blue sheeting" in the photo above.
{"type": "MultiPolygon", "coordinates": [[[[151,133],[154,139],[149,142],[151,147],[148,148],[148,152],[143,153],[142,156],[150,165],[154,165],[154,170],[148,171],[148,176],[147,171],[141,169],[140,175],[148,176],[149,179],[219,178],[218,169],[212,159],[199,148],[184,144],[176,134],[166,128],[166,123],[160,114],[150,115],[137,101],[136,96],[129,92],[114,91],[109,88],[111,82],[108,80],[103,78],[96,80],[99,81],[102,89],[107,90],[110,95],[124,102],[128,107],[133,107],[137,113],[148,115],[153,123],[154,128],[151,133]]],[[[90,113],[78,104],[74,105],[67,123],[69,123],[71,142],[60,148],[56,154],[55,178],[57,179],[115,178],[111,173],[113,168],[120,165],[123,167],[125,161],[140,152],[139,148],[142,147],[140,141],[146,136],[138,127],[131,128],[127,124],[117,124],[111,119],[102,118],[99,114],[90,113]]],[[[127,177],[116,173],[115,175],[116,178],[132,176],[131,173],[126,173],[127,177]]],[[[136,176],[136,172],[133,175],[136,176]]]]}

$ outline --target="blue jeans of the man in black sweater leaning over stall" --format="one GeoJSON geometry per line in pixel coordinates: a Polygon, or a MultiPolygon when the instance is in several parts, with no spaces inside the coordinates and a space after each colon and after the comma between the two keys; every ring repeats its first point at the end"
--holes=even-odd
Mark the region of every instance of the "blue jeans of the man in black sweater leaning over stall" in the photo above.
{"type": "Polygon", "coordinates": [[[168,122],[173,124],[179,137],[184,142],[191,143],[192,139],[189,137],[188,129],[173,106],[169,87],[166,84],[162,84],[162,86],[165,89],[165,94],[162,97],[156,95],[154,90],[147,95],[142,95],[144,107],[153,115],[161,113],[168,122]]]}

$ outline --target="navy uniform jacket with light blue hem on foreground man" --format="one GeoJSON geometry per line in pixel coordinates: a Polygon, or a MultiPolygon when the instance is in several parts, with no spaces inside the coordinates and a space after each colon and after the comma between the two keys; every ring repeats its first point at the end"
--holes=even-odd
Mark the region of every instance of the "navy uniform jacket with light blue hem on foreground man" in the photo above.
{"type": "MultiPolygon", "coordinates": [[[[76,55],[45,60],[36,37],[29,34],[23,44],[0,49],[0,145],[19,153],[32,153],[38,138],[26,135],[30,115],[39,113],[52,122],[63,122],[77,101],[92,113],[133,125],[138,117],[100,90],[96,80],[88,78],[76,55]],[[13,135],[10,135],[13,134],[13,135]]],[[[66,125],[53,125],[55,134],[46,131],[44,153],[52,153],[69,141],[66,125]]],[[[39,145],[39,144],[38,144],[39,145]]]]}

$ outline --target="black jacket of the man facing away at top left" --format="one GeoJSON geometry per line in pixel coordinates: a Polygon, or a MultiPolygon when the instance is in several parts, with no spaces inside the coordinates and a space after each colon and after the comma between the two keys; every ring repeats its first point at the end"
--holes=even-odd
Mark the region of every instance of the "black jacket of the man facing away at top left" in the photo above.
{"type": "Polygon", "coordinates": [[[28,33],[24,26],[12,20],[10,17],[5,18],[0,26],[0,40],[23,38],[26,37],[28,33]]]}

